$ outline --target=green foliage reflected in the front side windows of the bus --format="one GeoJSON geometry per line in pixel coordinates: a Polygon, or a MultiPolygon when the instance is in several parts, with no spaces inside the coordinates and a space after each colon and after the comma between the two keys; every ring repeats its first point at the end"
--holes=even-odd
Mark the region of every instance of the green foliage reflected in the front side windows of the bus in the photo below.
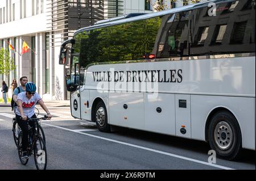
{"type": "MultiPolygon", "coordinates": [[[[160,23],[161,18],[157,17],[77,34],[76,43],[81,40],[81,66],[143,59],[144,54],[152,53],[160,23]]],[[[77,47],[79,44],[74,51],[77,47]]]]}

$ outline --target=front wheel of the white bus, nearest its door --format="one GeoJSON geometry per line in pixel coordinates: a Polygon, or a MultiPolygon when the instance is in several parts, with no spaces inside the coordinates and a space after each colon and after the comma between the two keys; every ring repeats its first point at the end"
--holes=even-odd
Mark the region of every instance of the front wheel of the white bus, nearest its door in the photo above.
{"type": "Polygon", "coordinates": [[[104,102],[97,103],[94,110],[94,120],[99,131],[110,132],[110,125],[108,124],[108,113],[104,102]]]}

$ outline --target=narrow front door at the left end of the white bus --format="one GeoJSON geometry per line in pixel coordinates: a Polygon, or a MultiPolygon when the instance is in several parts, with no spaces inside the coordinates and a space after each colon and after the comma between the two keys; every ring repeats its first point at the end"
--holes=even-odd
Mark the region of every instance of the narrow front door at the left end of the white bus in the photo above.
{"type": "Polygon", "coordinates": [[[71,90],[71,113],[73,117],[81,119],[80,111],[80,65],[79,55],[72,55],[71,57],[71,72],[70,79],[72,83],[71,90]]]}

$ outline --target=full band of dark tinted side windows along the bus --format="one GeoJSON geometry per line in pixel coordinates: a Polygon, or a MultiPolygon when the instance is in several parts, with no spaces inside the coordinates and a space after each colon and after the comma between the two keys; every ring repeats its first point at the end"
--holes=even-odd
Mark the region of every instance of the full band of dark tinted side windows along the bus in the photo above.
{"type": "MultiPolygon", "coordinates": [[[[255,52],[255,1],[221,2],[216,7],[216,16],[206,15],[209,7],[203,7],[83,32],[76,37],[81,40],[80,70],[92,62],[150,56],[255,52]]],[[[74,52],[79,52],[76,44],[74,52]]]]}

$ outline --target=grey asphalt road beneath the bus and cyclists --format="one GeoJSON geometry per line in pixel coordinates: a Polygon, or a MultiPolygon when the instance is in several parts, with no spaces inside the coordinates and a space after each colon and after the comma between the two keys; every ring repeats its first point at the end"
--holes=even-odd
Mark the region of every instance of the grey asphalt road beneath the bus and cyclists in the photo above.
{"type": "MultiPolygon", "coordinates": [[[[42,121],[46,134],[47,169],[82,170],[255,170],[255,151],[243,150],[239,161],[208,163],[203,141],[117,128],[102,133],[94,123],[73,119],[68,107],[50,108],[51,121],[42,121]]],[[[14,144],[10,108],[0,107],[0,169],[35,170],[34,158],[23,166],[14,144]]]]}

